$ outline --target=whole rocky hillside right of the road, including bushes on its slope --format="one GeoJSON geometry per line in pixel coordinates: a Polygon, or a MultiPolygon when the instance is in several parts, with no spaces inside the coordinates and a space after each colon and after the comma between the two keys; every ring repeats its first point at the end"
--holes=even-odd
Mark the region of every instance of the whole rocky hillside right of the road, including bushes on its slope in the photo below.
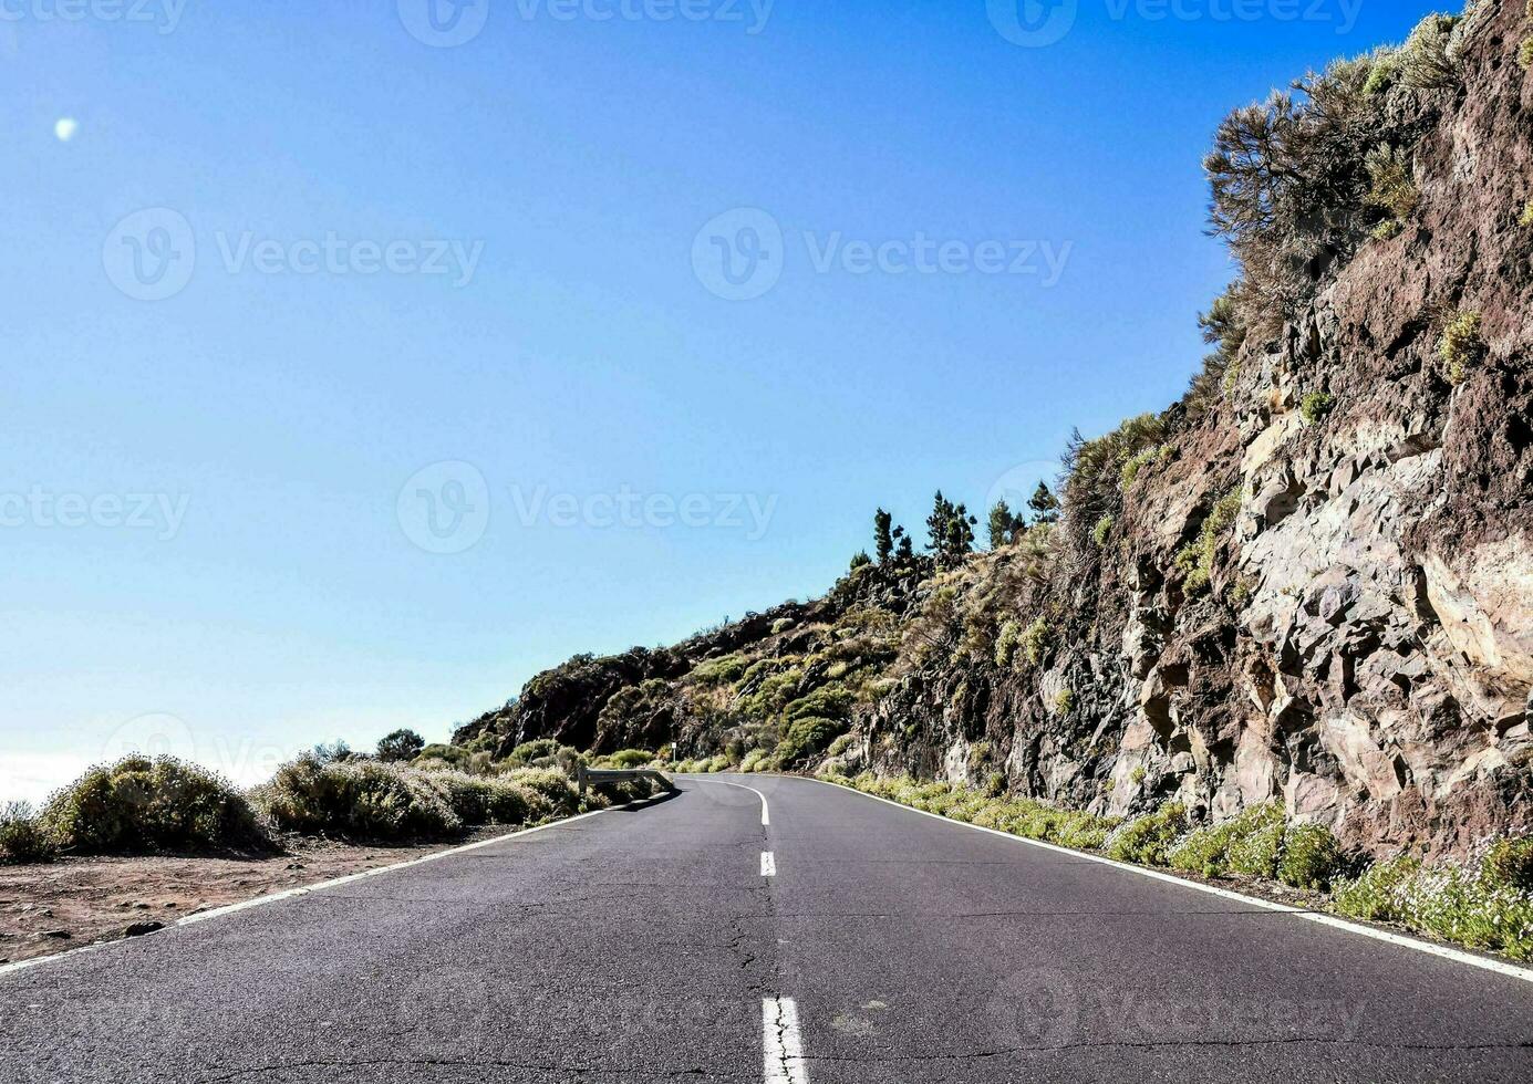
{"type": "Polygon", "coordinates": [[[1487,0],[1225,121],[1214,352],[1069,449],[1058,516],[970,553],[938,504],[931,554],[570,660],[458,744],[829,756],[1110,815],[1280,799],[1380,854],[1533,830],[1528,40],[1487,0]]]}

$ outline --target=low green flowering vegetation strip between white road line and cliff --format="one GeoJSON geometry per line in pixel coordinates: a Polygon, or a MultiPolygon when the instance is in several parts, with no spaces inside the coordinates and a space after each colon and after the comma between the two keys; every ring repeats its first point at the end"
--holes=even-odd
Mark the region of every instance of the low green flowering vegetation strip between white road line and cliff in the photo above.
{"type": "MultiPolygon", "coordinates": [[[[1254,805],[1219,825],[1197,825],[1177,802],[1131,819],[995,798],[949,782],[820,779],[901,805],[1023,839],[1093,851],[1208,880],[1280,882],[1320,894],[1321,906],[1466,948],[1533,960],[1533,839],[1501,839],[1478,862],[1424,867],[1410,857],[1371,862],[1328,828],[1289,822],[1279,804],[1254,805]]],[[[1252,885],[1237,885],[1252,886],[1252,885]]],[[[1260,885],[1254,885],[1260,891],[1260,885]]]]}

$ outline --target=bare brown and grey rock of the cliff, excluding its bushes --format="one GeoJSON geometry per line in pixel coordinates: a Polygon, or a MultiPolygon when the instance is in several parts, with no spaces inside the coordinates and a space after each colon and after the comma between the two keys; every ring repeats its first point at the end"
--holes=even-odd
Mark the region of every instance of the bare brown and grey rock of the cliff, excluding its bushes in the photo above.
{"type": "Polygon", "coordinates": [[[1533,29],[1502,0],[1469,31],[1462,86],[1403,100],[1421,132],[1404,228],[1248,338],[1217,403],[1162,415],[1110,518],[1067,501],[961,568],[862,570],[668,652],[575,660],[471,732],[722,740],[748,691],[699,713],[685,675],[797,658],[785,619],[872,606],[898,649],[857,686],[848,770],[1000,776],[1111,813],[1275,799],[1378,854],[1533,830],[1533,77],[1515,63],[1533,29]],[[1484,349],[1455,366],[1439,344],[1462,311],[1484,349]],[[647,721],[602,723],[647,683],[627,694],[647,721]]]}

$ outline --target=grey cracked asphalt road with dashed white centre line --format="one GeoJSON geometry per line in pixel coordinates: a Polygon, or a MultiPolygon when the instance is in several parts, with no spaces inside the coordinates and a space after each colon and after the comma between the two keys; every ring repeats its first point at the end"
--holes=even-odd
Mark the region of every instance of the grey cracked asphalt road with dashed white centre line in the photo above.
{"type": "Polygon", "coordinates": [[[1533,983],[825,784],[682,787],[0,974],[0,1081],[1533,1079],[1533,983]]]}

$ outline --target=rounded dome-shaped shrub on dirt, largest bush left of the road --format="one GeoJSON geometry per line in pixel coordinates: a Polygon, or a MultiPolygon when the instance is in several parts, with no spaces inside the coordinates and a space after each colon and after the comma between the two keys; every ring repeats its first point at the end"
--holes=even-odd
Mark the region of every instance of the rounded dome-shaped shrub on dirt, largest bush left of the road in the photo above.
{"type": "Polygon", "coordinates": [[[94,854],[268,842],[227,781],[173,756],[94,767],[48,799],[41,821],[61,848],[94,854]]]}

